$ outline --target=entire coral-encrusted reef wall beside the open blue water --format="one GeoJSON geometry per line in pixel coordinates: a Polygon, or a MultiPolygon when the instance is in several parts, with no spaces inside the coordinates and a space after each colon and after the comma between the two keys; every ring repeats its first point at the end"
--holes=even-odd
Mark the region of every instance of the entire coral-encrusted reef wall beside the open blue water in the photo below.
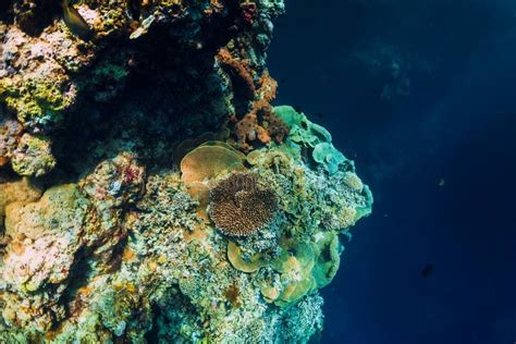
{"type": "MultiPolygon", "coordinates": [[[[0,4],[0,343],[306,343],[372,195],[265,59],[281,0],[0,4]]],[[[331,300],[330,300],[331,302],[331,300]]]]}

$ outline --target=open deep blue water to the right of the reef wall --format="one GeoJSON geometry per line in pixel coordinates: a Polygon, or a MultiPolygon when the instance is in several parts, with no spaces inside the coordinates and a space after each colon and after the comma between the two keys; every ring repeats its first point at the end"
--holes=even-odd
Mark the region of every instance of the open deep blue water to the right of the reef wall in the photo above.
{"type": "Polygon", "coordinates": [[[286,4],[277,103],[325,125],[376,196],[321,341],[516,343],[516,2],[286,4]]]}

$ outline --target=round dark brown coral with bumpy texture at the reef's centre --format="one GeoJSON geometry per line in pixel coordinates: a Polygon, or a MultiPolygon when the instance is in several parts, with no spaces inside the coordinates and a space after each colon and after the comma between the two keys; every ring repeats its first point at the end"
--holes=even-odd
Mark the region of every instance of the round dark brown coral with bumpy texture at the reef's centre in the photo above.
{"type": "Polygon", "coordinates": [[[255,173],[234,172],[210,193],[210,218],[228,235],[255,233],[271,222],[277,210],[277,195],[260,187],[255,173]]]}

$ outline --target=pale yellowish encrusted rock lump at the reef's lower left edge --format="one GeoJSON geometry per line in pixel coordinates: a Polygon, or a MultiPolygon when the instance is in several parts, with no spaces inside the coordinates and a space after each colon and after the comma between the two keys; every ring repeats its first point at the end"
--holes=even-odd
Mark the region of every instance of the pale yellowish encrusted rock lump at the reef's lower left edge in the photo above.
{"type": "Polygon", "coordinates": [[[10,242],[0,267],[7,323],[45,332],[64,317],[57,300],[82,246],[85,213],[85,199],[73,184],[52,187],[38,201],[7,207],[10,242]]]}

